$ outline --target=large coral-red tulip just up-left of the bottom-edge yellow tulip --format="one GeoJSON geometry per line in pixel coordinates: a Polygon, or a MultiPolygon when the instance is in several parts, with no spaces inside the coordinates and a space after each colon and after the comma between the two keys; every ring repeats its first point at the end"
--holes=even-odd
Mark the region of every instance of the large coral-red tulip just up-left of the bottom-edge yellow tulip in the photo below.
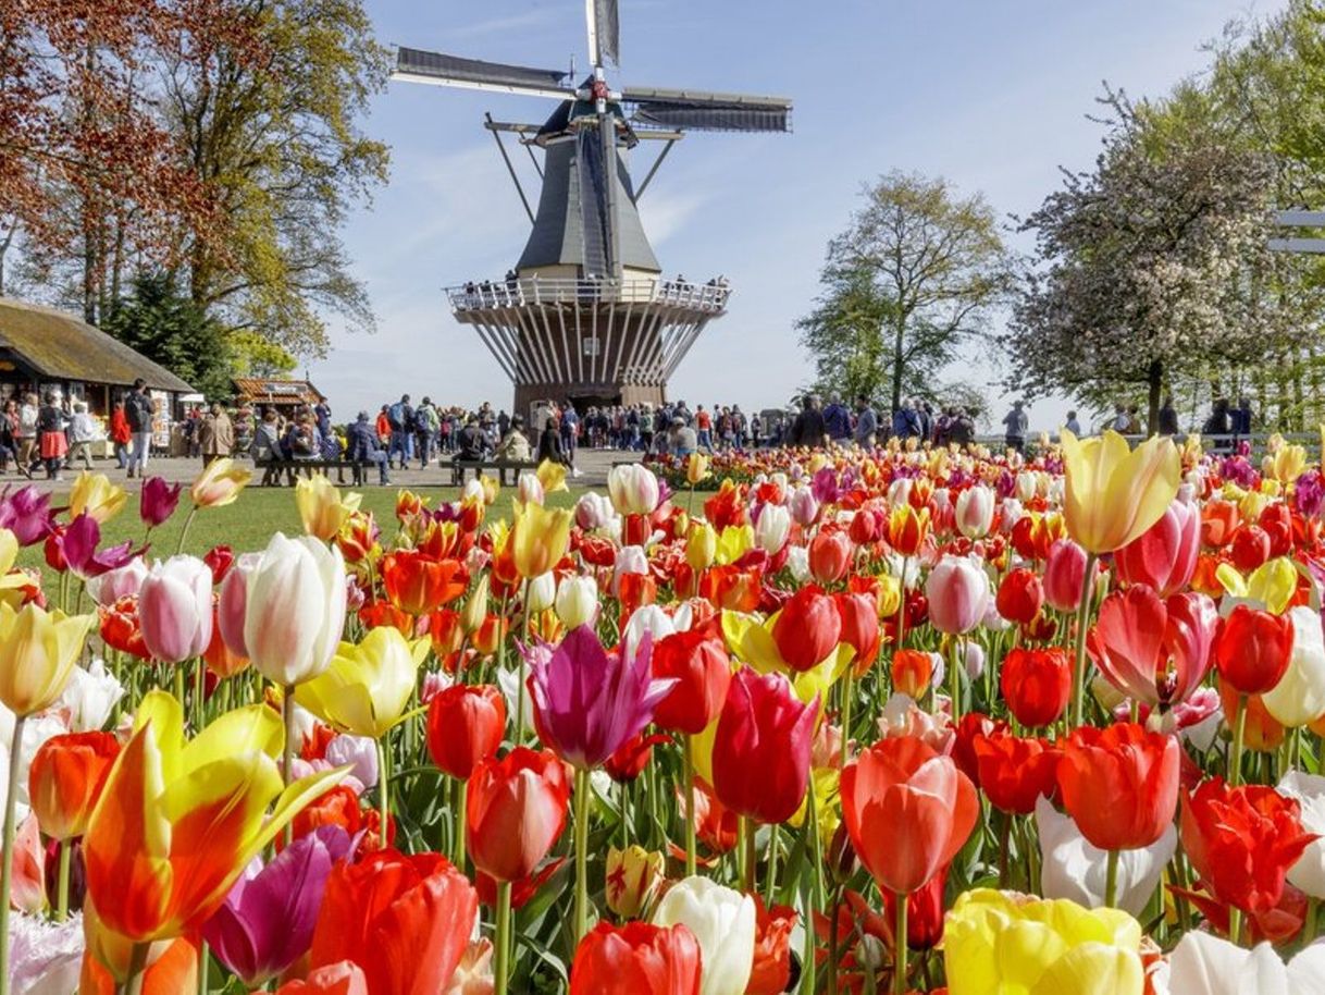
{"type": "Polygon", "coordinates": [[[878,888],[910,894],[962,849],[979,817],[975,785],[916,736],[884,739],[841,772],[841,815],[878,888]]]}

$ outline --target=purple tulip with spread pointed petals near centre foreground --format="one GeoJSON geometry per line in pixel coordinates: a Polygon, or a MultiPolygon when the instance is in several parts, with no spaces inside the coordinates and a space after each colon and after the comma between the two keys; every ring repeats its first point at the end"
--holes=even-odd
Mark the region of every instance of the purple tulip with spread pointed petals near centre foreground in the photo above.
{"type": "Polygon", "coordinates": [[[645,635],[631,659],[603,649],[594,629],[582,625],[562,645],[525,651],[529,694],[539,739],[562,760],[584,771],[600,767],[653,719],[673,679],[651,678],[645,635]]]}

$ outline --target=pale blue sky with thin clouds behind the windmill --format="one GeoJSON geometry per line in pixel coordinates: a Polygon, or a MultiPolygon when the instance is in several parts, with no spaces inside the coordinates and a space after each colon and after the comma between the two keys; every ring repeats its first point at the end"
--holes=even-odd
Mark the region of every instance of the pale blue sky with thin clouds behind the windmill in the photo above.
{"type": "MultiPolygon", "coordinates": [[[[1086,119],[1102,81],[1163,93],[1200,72],[1200,45],[1231,17],[1279,0],[620,0],[623,69],[612,82],[770,93],[795,100],[788,135],[692,134],[640,210],[668,273],[725,273],[727,316],[705,332],[672,395],[780,405],[811,375],[795,320],[819,291],[827,240],[863,183],[893,168],[980,190],[1006,216],[1034,210],[1059,166],[1090,165],[1086,119]]],[[[367,0],[383,42],[530,66],[586,65],[579,0],[367,0]]],[[[510,385],[441,288],[496,279],[529,222],[482,129],[542,121],[550,101],[392,82],[367,130],[392,147],[390,183],[356,211],[344,243],[378,314],[374,336],[333,321],[333,350],[307,364],[342,413],[401,391],[444,403],[510,403],[510,385]]],[[[519,151],[519,150],[513,150],[519,151]]],[[[647,159],[645,159],[647,161],[647,159]]],[[[515,159],[537,191],[527,155],[515,159]]],[[[641,175],[640,166],[635,167],[641,175]]],[[[535,192],[537,195],[537,192],[535,192]]],[[[1011,235],[1016,248],[1028,248],[1011,235]]],[[[954,370],[998,377],[992,348],[954,370]]],[[[988,391],[1002,406],[1003,398],[988,391]]],[[[1052,427],[1063,399],[1032,409],[1052,427]]],[[[1000,417],[1000,413],[999,413],[1000,417]]]]}

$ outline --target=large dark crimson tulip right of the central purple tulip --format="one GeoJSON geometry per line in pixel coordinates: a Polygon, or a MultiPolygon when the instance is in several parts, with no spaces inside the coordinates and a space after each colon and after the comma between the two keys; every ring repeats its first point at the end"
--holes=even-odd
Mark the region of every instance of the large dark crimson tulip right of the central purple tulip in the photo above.
{"type": "Polygon", "coordinates": [[[803,704],[782,674],[742,669],[731,681],[713,739],[713,791],[759,823],[784,823],[810,781],[819,699],[803,704]]]}

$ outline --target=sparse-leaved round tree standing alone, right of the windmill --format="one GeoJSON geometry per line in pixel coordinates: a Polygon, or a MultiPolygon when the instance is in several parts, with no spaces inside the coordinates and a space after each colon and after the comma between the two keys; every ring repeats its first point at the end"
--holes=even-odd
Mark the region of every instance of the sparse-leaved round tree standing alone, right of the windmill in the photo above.
{"type": "Polygon", "coordinates": [[[1008,288],[992,208],[942,178],[889,172],[828,244],[825,292],[798,322],[820,379],[888,391],[896,410],[986,330],[1008,288]]]}

